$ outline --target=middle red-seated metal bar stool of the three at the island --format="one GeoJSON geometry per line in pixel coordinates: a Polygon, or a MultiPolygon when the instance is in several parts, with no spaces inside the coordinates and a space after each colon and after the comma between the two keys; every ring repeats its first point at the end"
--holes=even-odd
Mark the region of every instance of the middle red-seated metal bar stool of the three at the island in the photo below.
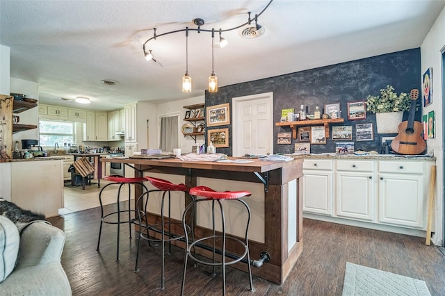
{"type": "Polygon", "coordinates": [[[134,268],[134,272],[138,272],[138,259],[139,259],[139,245],[140,240],[147,240],[147,242],[150,245],[150,242],[161,242],[162,247],[162,263],[161,263],[161,290],[164,289],[164,269],[165,269],[165,242],[168,242],[168,254],[171,254],[172,249],[172,241],[173,240],[182,240],[186,234],[191,233],[192,238],[194,238],[193,233],[193,224],[194,224],[194,217],[191,216],[191,222],[189,222],[189,225],[184,222],[184,233],[172,233],[172,225],[178,224],[181,225],[180,231],[183,229],[183,223],[178,221],[172,221],[171,218],[171,195],[170,192],[172,191],[182,191],[185,193],[185,196],[188,196],[191,199],[191,203],[195,201],[194,197],[188,194],[188,187],[184,184],[174,184],[170,181],[165,181],[163,179],[157,179],[152,177],[145,177],[147,181],[149,181],[152,186],[154,186],[155,190],[148,190],[147,192],[144,192],[140,197],[138,198],[138,202],[136,202],[136,207],[138,208],[138,218],[139,218],[139,225],[140,225],[140,232],[139,232],[139,240],[138,240],[138,251],[136,253],[136,266],[134,268]],[[147,212],[147,204],[149,200],[149,193],[151,192],[163,192],[162,199],[161,199],[161,221],[156,224],[149,224],[148,222],[148,212],[147,212]],[[164,199],[165,195],[168,192],[168,217],[167,220],[164,220],[164,199]],[[146,198],[145,198],[146,197],[146,198]],[[168,224],[168,231],[165,232],[165,224],[168,224]],[[159,227],[161,227],[159,229],[159,227]],[[156,238],[154,236],[149,235],[149,231],[154,231],[161,234],[161,238],[156,238]]]}

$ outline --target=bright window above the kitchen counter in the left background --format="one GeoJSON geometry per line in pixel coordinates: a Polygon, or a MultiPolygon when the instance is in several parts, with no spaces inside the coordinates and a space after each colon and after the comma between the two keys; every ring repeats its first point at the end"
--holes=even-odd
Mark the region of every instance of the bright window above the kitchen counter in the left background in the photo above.
{"type": "Polygon", "coordinates": [[[57,142],[60,147],[63,147],[63,143],[75,143],[73,122],[40,120],[39,132],[40,146],[52,147],[57,142]]]}

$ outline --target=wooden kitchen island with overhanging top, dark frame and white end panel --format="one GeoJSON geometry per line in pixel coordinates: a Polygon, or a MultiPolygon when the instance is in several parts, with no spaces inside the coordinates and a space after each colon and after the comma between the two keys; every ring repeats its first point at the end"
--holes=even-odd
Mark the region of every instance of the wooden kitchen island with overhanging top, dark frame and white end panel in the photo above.
{"type": "MultiPolygon", "coordinates": [[[[228,182],[262,183],[264,196],[255,198],[264,198],[264,217],[261,217],[264,222],[264,238],[261,242],[250,239],[250,257],[252,260],[259,260],[260,254],[267,252],[270,254],[270,261],[259,268],[252,268],[252,273],[282,284],[302,252],[302,198],[298,186],[302,176],[302,159],[284,162],[250,159],[250,163],[220,163],[181,161],[179,158],[118,157],[101,158],[101,161],[124,163],[127,169],[128,166],[133,167],[135,176],[149,176],[152,173],[184,176],[183,183],[189,188],[204,185],[207,178],[228,182]]],[[[165,176],[165,179],[168,179],[168,176],[165,176]]],[[[140,186],[136,186],[133,192],[135,197],[138,197],[141,193],[140,186]]],[[[248,199],[245,198],[245,201],[248,199]]],[[[208,235],[209,229],[196,226],[195,236],[199,238],[208,235]]],[[[236,245],[227,247],[233,247],[232,251],[236,254],[239,252],[236,245]]],[[[206,252],[202,254],[209,255],[206,252]]],[[[245,263],[236,263],[233,266],[247,270],[245,263]]]]}

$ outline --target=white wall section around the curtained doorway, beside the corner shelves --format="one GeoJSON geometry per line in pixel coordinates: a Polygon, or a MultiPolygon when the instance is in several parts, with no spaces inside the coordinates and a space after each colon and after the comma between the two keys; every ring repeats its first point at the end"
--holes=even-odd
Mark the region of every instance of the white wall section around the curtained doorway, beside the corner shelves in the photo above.
{"type": "MultiPolygon", "coordinates": [[[[181,99],[179,101],[170,101],[168,103],[163,103],[158,105],[158,124],[159,117],[163,117],[165,115],[176,115],[179,114],[179,147],[181,148],[181,153],[190,153],[192,151],[192,146],[195,145],[195,140],[191,137],[187,136],[184,138],[182,135],[181,127],[182,124],[186,124],[187,122],[182,121],[181,119],[186,117],[186,110],[183,106],[189,106],[194,104],[204,104],[205,97],[204,94],[200,97],[193,97],[190,99],[181,99]]],[[[158,131],[160,129],[158,128],[158,131]]],[[[159,142],[159,135],[158,135],[159,142]]],[[[197,137],[197,142],[204,143],[204,136],[200,135],[197,137]]]]}

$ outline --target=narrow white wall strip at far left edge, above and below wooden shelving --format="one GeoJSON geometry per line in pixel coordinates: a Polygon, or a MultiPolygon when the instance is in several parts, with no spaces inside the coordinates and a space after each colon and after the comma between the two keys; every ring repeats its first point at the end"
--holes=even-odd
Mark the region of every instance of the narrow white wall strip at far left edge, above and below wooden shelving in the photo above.
{"type": "MultiPolygon", "coordinates": [[[[10,49],[0,44],[0,94],[9,94],[10,49]]],[[[11,163],[0,163],[0,197],[11,200],[11,163]]]]}

